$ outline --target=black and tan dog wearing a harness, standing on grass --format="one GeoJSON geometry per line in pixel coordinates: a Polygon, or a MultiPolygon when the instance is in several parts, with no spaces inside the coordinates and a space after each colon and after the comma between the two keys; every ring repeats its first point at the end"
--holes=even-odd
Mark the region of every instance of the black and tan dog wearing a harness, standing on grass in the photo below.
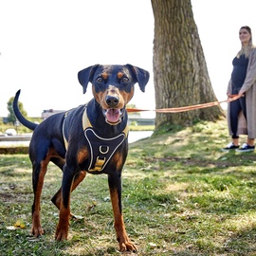
{"type": "Polygon", "coordinates": [[[19,121],[34,130],[29,145],[32,163],[34,202],[32,229],[35,236],[44,230],[40,221],[40,197],[49,161],[63,170],[62,188],[52,197],[60,210],[56,240],[67,238],[70,193],[82,182],[86,173],[107,174],[114,212],[115,229],[121,251],[136,251],[125,231],[121,210],[121,171],[128,153],[126,104],[134,95],[134,84],[144,92],[149,72],[126,65],[89,66],[78,74],[83,93],[92,83],[94,99],[65,113],[55,114],[39,125],[25,119],[18,109],[20,91],[13,101],[19,121]]]}

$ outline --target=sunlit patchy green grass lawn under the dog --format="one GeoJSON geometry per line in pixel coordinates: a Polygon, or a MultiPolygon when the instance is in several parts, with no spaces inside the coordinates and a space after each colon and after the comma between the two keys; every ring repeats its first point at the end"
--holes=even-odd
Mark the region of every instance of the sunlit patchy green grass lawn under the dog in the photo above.
{"type": "MultiPolygon", "coordinates": [[[[256,255],[256,153],[221,152],[228,142],[221,120],[130,144],[122,198],[139,249],[133,255],[256,255]]],[[[54,241],[58,210],[50,198],[61,177],[49,165],[46,234],[34,238],[31,164],[27,155],[0,155],[0,255],[120,254],[105,175],[88,174],[72,193],[72,212],[82,218],[71,221],[67,241],[54,241]],[[13,229],[19,219],[25,228],[13,229]]]]}

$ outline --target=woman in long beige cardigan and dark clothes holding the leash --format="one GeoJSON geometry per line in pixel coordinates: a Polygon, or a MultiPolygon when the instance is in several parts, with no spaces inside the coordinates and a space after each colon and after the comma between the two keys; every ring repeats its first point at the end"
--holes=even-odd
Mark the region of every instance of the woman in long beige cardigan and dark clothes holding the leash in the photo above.
{"type": "Polygon", "coordinates": [[[241,50],[233,59],[233,70],[228,85],[227,95],[240,98],[228,103],[228,126],[232,141],[223,151],[254,151],[256,137],[256,47],[252,44],[250,27],[239,30],[241,50]],[[247,135],[247,143],[239,145],[239,135],[247,135]]]}

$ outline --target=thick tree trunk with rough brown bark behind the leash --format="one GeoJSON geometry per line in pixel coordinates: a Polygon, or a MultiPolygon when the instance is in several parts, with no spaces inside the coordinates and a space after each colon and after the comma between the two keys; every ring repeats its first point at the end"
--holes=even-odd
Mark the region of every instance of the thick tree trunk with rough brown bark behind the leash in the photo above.
{"type": "MultiPolygon", "coordinates": [[[[193,20],[191,0],[152,0],[155,16],[154,82],[157,109],[217,101],[193,20]]],[[[190,126],[224,116],[218,106],[175,114],[156,114],[155,128],[190,126]]]]}

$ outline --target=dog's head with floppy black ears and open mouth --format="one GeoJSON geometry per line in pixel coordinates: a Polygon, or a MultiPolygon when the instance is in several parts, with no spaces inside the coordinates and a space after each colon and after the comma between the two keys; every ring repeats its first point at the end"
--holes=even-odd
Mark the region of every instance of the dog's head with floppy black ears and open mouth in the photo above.
{"type": "Polygon", "coordinates": [[[101,105],[106,121],[113,125],[119,123],[126,104],[133,98],[135,83],[144,92],[149,77],[148,71],[131,64],[96,64],[78,73],[83,93],[91,82],[95,100],[101,105]]]}

